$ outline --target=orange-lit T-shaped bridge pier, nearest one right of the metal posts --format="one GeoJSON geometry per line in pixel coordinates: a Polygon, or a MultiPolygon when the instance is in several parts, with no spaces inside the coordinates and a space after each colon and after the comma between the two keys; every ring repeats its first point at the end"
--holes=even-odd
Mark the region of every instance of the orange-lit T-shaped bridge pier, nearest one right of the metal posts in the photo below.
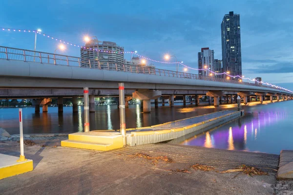
{"type": "Polygon", "coordinates": [[[160,98],[162,95],[161,91],[155,90],[138,90],[132,93],[132,97],[135,99],[143,100],[143,111],[144,113],[150,113],[150,100],[160,98]]]}

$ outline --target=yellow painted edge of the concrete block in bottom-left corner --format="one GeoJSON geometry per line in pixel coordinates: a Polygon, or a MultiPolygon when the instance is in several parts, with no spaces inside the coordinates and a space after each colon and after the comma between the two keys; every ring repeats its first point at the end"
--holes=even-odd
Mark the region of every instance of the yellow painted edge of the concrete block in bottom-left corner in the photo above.
{"type": "Polygon", "coordinates": [[[34,167],[32,160],[27,160],[11,166],[0,167],[0,179],[30,172],[33,169],[34,167]]]}

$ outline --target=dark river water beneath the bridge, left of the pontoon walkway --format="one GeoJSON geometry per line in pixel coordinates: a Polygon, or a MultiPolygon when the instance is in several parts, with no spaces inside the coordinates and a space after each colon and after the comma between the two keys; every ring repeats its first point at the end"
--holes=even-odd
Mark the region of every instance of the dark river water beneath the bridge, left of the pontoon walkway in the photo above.
{"type": "MultiPolygon", "coordinates": [[[[96,112],[89,115],[90,130],[120,129],[117,105],[96,106],[95,108],[96,112]]],[[[23,108],[23,132],[24,134],[83,132],[83,109],[83,106],[79,106],[78,113],[72,113],[72,107],[63,107],[63,113],[58,114],[58,107],[48,107],[48,113],[42,113],[41,110],[41,113],[36,114],[32,107],[23,108]]],[[[144,114],[139,104],[129,105],[129,108],[126,108],[126,128],[151,126],[220,110],[223,108],[160,106],[157,109],[152,107],[151,114],[144,114]]],[[[0,128],[10,134],[19,134],[18,108],[0,109],[0,128]]]]}

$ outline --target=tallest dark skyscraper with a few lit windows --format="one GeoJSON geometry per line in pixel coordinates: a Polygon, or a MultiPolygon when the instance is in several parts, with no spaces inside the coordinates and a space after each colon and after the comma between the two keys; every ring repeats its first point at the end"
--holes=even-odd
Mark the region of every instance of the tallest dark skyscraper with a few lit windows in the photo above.
{"type": "Polygon", "coordinates": [[[221,35],[223,71],[232,76],[242,76],[239,14],[229,12],[224,16],[221,23],[221,35]]]}

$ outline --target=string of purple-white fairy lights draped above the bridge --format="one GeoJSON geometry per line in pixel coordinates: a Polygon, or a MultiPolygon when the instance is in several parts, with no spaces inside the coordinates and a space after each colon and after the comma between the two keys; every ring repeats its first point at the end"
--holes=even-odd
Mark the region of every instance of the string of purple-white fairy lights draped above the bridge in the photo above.
{"type": "MultiPolygon", "coordinates": [[[[65,45],[70,45],[70,46],[74,46],[74,47],[79,47],[79,48],[83,48],[83,49],[89,49],[89,50],[94,50],[94,51],[98,51],[97,49],[95,48],[90,48],[90,47],[85,47],[84,45],[80,45],[80,44],[75,44],[75,43],[72,43],[72,42],[69,42],[69,41],[65,41],[63,39],[58,39],[56,37],[53,37],[51,35],[47,35],[45,33],[42,33],[41,30],[31,30],[31,29],[12,29],[12,28],[0,28],[2,29],[2,31],[9,31],[9,32],[23,32],[23,33],[37,33],[37,34],[40,34],[42,35],[42,37],[46,37],[46,38],[49,38],[49,39],[52,39],[52,40],[55,40],[55,41],[58,41],[59,43],[62,43],[62,44],[65,44],[65,45]]],[[[120,52],[120,51],[109,51],[109,50],[99,50],[99,52],[105,52],[105,53],[120,53],[120,54],[134,54],[134,55],[137,55],[138,57],[141,57],[143,59],[146,59],[146,60],[149,60],[149,61],[153,61],[153,62],[157,62],[157,63],[164,63],[164,64],[180,64],[182,66],[184,66],[185,68],[188,68],[190,70],[196,70],[196,71],[208,71],[210,75],[226,75],[227,79],[230,79],[230,78],[240,78],[240,82],[242,80],[250,80],[252,82],[257,82],[257,83],[262,83],[262,84],[266,84],[266,85],[269,85],[269,86],[272,86],[272,87],[275,87],[275,88],[278,88],[278,89],[281,89],[281,90],[285,90],[285,91],[288,91],[288,92],[291,92],[293,93],[293,91],[290,91],[288,89],[285,89],[283,87],[280,87],[280,86],[277,86],[277,85],[274,85],[274,84],[271,84],[271,83],[268,83],[268,82],[264,82],[264,81],[258,81],[258,80],[255,80],[255,79],[251,79],[251,78],[246,78],[244,76],[232,76],[230,75],[229,73],[216,73],[216,72],[213,72],[212,70],[210,70],[209,68],[202,68],[202,69],[197,69],[197,68],[192,68],[186,64],[184,64],[183,62],[167,62],[167,61],[160,61],[160,60],[156,60],[156,59],[151,59],[151,58],[147,58],[145,56],[142,56],[140,54],[138,54],[137,52],[134,52],[134,51],[123,51],[123,52],[120,52]]]]}

